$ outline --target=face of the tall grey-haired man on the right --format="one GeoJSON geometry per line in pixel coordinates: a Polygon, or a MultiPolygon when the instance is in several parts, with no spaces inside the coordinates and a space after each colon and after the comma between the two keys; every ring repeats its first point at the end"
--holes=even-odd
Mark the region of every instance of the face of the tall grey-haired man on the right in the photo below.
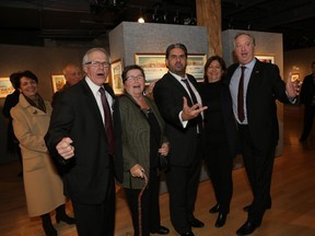
{"type": "Polygon", "coordinates": [[[234,52],[241,64],[249,63],[255,57],[255,43],[249,35],[242,34],[234,40],[234,52]]]}

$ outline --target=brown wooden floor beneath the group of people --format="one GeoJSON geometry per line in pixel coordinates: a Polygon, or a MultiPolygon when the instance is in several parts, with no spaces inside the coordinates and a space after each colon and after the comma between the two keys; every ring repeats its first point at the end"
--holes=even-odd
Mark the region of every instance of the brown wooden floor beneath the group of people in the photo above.
{"type": "MultiPolygon", "coordinates": [[[[284,106],[283,155],[276,158],[272,179],[272,209],[267,211],[261,226],[253,236],[314,236],[315,235],[315,131],[305,143],[299,142],[302,109],[284,106]]],[[[23,180],[18,177],[19,163],[0,165],[0,235],[44,236],[39,219],[30,219],[25,206],[23,180]]],[[[206,223],[201,229],[194,228],[198,236],[229,236],[246,221],[242,210],[252,201],[244,168],[233,172],[234,193],[231,213],[222,228],[214,227],[217,215],[209,214],[215,201],[209,180],[200,182],[195,216],[206,223]]],[[[168,194],[161,194],[162,224],[177,235],[168,214],[168,194]]],[[[71,203],[67,210],[72,214],[71,203]]],[[[55,213],[52,214],[55,216],[55,213]]],[[[75,236],[75,226],[65,223],[54,224],[61,236],[75,236]]],[[[130,214],[122,191],[118,191],[117,236],[132,235],[130,214]]],[[[91,235],[93,236],[93,235],[91,235]]]]}

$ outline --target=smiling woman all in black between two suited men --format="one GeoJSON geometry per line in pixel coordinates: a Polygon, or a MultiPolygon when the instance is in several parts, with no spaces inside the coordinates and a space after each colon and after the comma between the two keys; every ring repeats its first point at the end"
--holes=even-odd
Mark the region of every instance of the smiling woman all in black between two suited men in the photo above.
{"type": "Polygon", "coordinates": [[[225,224],[233,192],[232,168],[237,154],[236,120],[232,109],[229,85],[224,81],[226,66],[220,56],[210,57],[205,64],[205,83],[200,84],[205,110],[205,160],[214,189],[218,213],[215,227],[225,224]]]}

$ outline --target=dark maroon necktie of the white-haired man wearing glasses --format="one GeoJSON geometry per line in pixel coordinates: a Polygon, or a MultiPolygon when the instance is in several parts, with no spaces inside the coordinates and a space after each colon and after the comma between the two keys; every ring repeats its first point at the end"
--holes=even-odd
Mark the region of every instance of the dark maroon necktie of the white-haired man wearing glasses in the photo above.
{"type": "Polygon", "coordinates": [[[108,141],[109,154],[113,155],[114,150],[115,150],[115,138],[114,138],[114,129],[113,129],[113,122],[112,122],[112,114],[110,114],[109,105],[105,95],[105,88],[100,87],[98,92],[101,93],[101,99],[102,99],[102,105],[104,109],[105,131],[106,131],[107,141],[108,141]]]}

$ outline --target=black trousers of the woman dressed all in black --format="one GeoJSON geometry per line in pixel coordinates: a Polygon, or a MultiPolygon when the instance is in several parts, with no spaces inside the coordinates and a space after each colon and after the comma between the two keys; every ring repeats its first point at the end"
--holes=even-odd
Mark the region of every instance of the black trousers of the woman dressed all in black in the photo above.
{"type": "Polygon", "coordinates": [[[228,214],[233,192],[233,157],[229,144],[224,141],[207,143],[205,154],[215,199],[220,204],[219,212],[228,214]]]}

